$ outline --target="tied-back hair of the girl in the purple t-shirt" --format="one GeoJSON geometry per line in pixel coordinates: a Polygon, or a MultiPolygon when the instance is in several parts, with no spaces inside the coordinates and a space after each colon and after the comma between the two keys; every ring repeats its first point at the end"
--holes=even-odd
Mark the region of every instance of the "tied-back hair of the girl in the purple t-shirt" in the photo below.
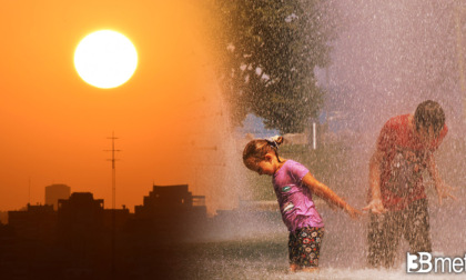
{"type": "Polygon", "coordinates": [[[254,139],[251,140],[243,151],[243,162],[245,166],[247,166],[249,160],[254,160],[256,162],[263,160],[265,158],[265,154],[270,151],[274,151],[276,154],[276,158],[280,162],[278,157],[278,146],[283,143],[283,137],[276,136],[272,137],[270,139],[254,139]]]}

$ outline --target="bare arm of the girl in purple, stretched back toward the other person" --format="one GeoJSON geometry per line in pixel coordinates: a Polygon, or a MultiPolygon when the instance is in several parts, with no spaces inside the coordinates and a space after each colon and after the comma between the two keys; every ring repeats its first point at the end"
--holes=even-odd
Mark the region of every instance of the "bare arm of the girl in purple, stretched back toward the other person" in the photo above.
{"type": "Polygon", "coordinates": [[[358,210],[346,203],[346,201],[338,197],[333,190],[331,190],[331,188],[317,181],[317,179],[315,179],[311,173],[303,177],[303,184],[306,186],[313,193],[345,210],[352,219],[356,219],[359,214],[362,214],[358,210]]]}

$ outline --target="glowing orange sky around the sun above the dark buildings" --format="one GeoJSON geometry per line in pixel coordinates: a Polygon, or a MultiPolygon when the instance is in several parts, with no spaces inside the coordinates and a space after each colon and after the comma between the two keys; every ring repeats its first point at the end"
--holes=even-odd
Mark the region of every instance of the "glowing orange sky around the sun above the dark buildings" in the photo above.
{"type": "MultiPolygon", "coordinates": [[[[111,207],[114,130],[116,206],[142,204],[152,183],[188,183],[184,141],[210,120],[193,108],[217,94],[204,11],[195,1],[3,1],[0,9],[0,210],[43,203],[65,183],[111,207]],[[90,32],[112,29],[135,46],[133,77],[115,89],[83,82],[73,52],[90,32]],[[184,141],[184,142],[183,142],[184,141]]],[[[216,110],[204,106],[203,113],[216,110]]],[[[212,112],[215,113],[215,112],[212,112]]],[[[209,123],[207,123],[209,126],[209,123]]],[[[200,192],[200,191],[197,191],[200,192]]],[[[207,193],[195,193],[207,194],[207,193]]]]}

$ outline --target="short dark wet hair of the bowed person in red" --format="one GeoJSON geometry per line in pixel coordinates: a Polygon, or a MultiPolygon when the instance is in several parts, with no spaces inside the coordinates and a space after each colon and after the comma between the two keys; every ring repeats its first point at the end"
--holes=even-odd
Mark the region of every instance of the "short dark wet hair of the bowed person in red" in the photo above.
{"type": "Polygon", "coordinates": [[[426,100],[417,106],[414,113],[414,123],[417,131],[421,127],[433,126],[435,136],[438,136],[445,126],[445,112],[437,102],[426,100]]]}

